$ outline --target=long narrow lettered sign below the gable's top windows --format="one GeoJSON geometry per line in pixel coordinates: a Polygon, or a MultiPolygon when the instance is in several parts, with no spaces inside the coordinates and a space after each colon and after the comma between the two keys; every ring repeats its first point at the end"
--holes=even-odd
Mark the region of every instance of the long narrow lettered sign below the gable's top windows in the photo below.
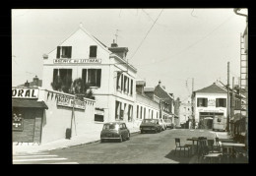
{"type": "Polygon", "coordinates": [[[101,59],[53,59],[53,64],[95,64],[101,59]]]}

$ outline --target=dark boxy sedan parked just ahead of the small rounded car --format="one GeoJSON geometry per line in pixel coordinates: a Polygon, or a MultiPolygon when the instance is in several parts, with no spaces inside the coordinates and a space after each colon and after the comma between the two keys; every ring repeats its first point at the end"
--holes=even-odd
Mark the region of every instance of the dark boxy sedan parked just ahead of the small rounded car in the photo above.
{"type": "Polygon", "coordinates": [[[158,133],[161,131],[161,126],[159,119],[143,119],[140,125],[141,133],[144,132],[155,132],[158,133]]]}

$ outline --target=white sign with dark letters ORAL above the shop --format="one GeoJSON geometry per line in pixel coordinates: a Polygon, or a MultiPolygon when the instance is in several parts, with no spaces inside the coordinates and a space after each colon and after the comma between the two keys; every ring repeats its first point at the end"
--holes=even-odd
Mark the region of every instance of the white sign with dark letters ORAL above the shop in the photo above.
{"type": "Polygon", "coordinates": [[[37,88],[12,88],[13,98],[38,98],[37,88]]]}

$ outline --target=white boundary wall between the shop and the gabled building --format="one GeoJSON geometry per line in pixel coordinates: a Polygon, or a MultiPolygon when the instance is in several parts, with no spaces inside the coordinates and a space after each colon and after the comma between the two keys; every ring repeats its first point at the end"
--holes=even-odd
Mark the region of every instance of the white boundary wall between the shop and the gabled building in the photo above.
{"type": "MultiPolygon", "coordinates": [[[[62,93],[53,90],[40,88],[39,97],[47,104],[48,109],[44,110],[42,120],[41,143],[48,143],[66,138],[66,129],[71,127],[72,107],[57,105],[57,94],[74,97],[72,94],[62,93]]],[[[75,108],[75,118],[72,126],[72,136],[81,136],[88,132],[85,128],[94,124],[95,101],[86,99],[86,109],[75,108]]]]}

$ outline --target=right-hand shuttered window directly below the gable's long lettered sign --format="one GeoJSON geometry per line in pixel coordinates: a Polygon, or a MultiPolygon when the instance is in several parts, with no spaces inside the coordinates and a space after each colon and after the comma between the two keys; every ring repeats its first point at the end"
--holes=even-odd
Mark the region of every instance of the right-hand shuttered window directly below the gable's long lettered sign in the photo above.
{"type": "Polygon", "coordinates": [[[101,69],[83,69],[82,79],[84,83],[89,84],[91,87],[100,88],[101,69]]]}

